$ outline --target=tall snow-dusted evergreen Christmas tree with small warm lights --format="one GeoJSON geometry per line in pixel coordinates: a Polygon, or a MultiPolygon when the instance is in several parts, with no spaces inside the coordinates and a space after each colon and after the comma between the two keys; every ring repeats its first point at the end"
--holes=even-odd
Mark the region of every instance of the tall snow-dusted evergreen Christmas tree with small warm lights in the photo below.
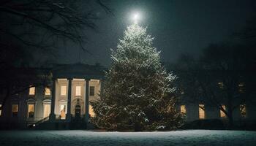
{"type": "Polygon", "coordinates": [[[112,50],[100,98],[91,102],[96,115],[91,121],[99,128],[140,131],[181,125],[172,85],[176,76],[161,65],[153,39],[146,28],[132,24],[112,50]]]}

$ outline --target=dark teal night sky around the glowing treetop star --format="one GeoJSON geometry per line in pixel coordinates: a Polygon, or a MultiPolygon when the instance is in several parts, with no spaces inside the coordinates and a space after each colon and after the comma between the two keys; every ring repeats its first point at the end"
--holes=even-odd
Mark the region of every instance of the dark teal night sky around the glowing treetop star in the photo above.
{"type": "MultiPolygon", "coordinates": [[[[253,0],[252,0],[253,1],[253,0]]],[[[250,0],[116,0],[109,6],[113,15],[99,11],[97,31],[88,31],[83,53],[76,45],[65,45],[58,53],[58,64],[110,64],[110,48],[115,49],[124,30],[132,24],[133,12],[140,12],[141,26],[155,37],[154,46],[162,61],[173,62],[181,53],[199,55],[209,43],[228,41],[252,17],[250,0]],[[80,58],[79,58],[80,54],[80,58]]]]}

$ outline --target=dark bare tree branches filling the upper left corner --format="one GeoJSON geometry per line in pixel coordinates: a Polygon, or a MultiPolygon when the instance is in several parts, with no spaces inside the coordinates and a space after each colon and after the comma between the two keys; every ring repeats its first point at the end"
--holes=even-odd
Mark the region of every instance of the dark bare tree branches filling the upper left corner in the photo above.
{"type": "Polygon", "coordinates": [[[89,53],[83,45],[87,31],[97,30],[100,10],[111,13],[108,1],[0,1],[0,110],[10,96],[49,85],[50,72],[41,67],[49,63],[43,56],[54,59],[64,42],[89,53]]]}

